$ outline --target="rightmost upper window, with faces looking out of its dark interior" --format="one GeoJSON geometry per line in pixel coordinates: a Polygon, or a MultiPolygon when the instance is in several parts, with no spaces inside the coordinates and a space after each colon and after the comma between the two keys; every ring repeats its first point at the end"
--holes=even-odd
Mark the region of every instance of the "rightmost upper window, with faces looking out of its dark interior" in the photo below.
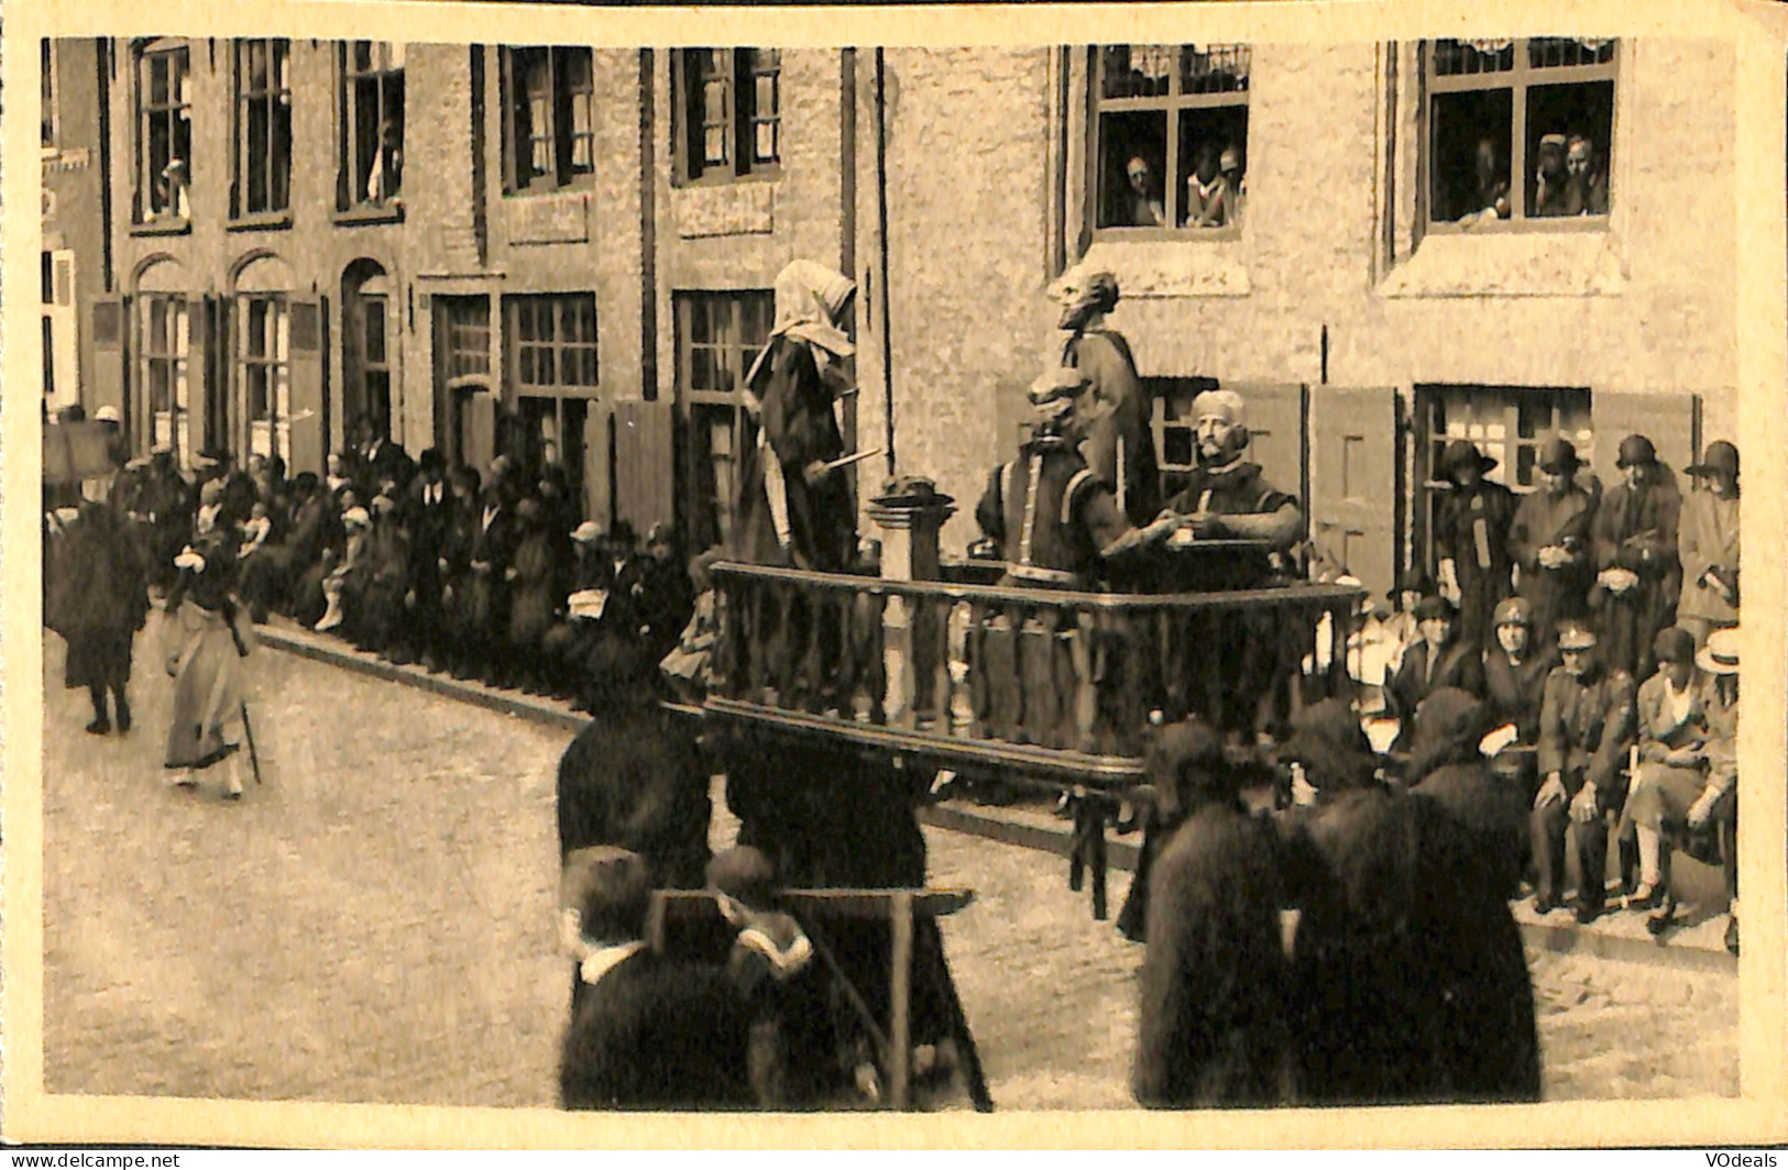
{"type": "Polygon", "coordinates": [[[1429,223],[1606,216],[1615,41],[1430,41],[1429,223]]]}

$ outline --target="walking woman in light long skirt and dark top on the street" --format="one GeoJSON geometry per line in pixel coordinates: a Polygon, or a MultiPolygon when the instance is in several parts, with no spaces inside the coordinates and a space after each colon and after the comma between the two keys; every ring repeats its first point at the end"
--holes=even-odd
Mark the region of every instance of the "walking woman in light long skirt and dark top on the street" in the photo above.
{"type": "Polygon", "coordinates": [[[225,795],[241,797],[240,740],[224,731],[241,722],[254,627],[236,600],[234,523],[218,516],[200,525],[173,559],[179,579],[168,595],[168,673],[173,675],[173,722],[168,727],[166,768],[177,788],[193,788],[202,772],[224,765],[225,795]]]}

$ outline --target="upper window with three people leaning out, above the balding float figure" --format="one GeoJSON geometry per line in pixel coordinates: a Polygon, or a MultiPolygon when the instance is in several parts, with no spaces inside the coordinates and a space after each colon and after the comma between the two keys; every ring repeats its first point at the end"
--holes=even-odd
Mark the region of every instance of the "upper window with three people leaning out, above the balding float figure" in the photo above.
{"type": "Polygon", "coordinates": [[[1241,225],[1250,57],[1246,45],[1094,50],[1096,227],[1241,225]]]}

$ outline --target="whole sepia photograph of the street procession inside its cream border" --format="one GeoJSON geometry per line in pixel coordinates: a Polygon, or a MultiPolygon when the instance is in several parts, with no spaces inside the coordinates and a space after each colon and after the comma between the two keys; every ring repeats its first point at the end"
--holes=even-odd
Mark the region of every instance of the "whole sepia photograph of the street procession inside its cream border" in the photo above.
{"type": "Polygon", "coordinates": [[[1734,25],[259,9],[7,41],[41,1093],[1740,1095],[1734,25]]]}

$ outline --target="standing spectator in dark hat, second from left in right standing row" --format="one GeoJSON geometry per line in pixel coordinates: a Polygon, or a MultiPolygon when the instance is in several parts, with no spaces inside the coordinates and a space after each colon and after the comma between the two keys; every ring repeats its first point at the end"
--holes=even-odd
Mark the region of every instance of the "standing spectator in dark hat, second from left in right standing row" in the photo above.
{"type": "Polygon", "coordinates": [[[1595,550],[1595,500],[1577,484],[1577,448],[1563,436],[1539,448],[1539,491],[1522,498],[1509,529],[1520,595],[1532,607],[1534,636],[1550,647],[1557,623],[1588,613],[1595,550]]]}

